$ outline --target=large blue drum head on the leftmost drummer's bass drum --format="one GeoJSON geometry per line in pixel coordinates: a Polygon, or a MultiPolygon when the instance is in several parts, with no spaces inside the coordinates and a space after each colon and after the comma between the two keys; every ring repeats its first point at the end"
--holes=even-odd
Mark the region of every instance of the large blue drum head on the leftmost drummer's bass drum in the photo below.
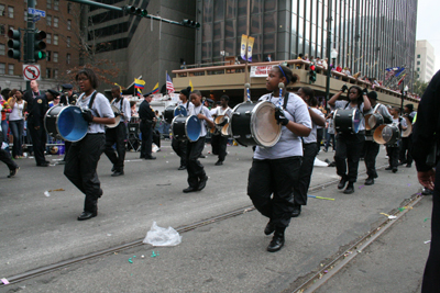
{"type": "Polygon", "coordinates": [[[86,136],[89,124],[84,120],[79,106],[66,106],[57,117],[59,135],[68,142],[78,142],[86,136]]]}

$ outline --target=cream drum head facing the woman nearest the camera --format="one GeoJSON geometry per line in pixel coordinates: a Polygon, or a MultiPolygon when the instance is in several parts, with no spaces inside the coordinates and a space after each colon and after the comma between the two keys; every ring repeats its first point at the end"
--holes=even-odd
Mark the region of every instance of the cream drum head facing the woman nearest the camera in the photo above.
{"type": "Polygon", "coordinates": [[[273,147],[282,136],[282,125],[275,120],[275,105],[271,102],[260,102],[252,110],[252,136],[260,146],[273,147]]]}

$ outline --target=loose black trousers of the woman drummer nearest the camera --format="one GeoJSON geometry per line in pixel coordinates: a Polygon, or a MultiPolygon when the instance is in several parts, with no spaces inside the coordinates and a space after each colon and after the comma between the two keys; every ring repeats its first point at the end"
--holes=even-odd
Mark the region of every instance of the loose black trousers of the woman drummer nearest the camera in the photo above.
{"type": "Polygon", "coordinates": [[[294,185],[298,181],[300,157],[253,159],[248,178],[248,195],[255,209],[275,227],[287,227],[294,211],[294,185]]]}

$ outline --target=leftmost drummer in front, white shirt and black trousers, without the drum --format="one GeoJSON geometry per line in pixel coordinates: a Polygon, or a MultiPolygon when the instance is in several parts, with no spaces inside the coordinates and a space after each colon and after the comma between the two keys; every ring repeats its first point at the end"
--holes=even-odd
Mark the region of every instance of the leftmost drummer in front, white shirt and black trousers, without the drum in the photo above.
{"type": "Polygon", "coordinates": [[[84,212],[78,216],[78,221],[85,221],[98,215],[98,199],[102,190],[97,167],[106,144],[105,124],[113,124],[114,114],[109,100],[97,92],[98,78],[91,69],[79,70],[75,79],[82,92],[77,105],[82,109],[82,117],[89,127],[81,140],[72,144],[64,174],[86,195],[84,212]]]}

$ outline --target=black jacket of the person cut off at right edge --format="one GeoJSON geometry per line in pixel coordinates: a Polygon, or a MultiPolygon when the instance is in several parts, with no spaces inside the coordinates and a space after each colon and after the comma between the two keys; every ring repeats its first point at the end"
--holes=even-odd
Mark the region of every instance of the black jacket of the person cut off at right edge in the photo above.
{"type": "Polygon", "coordinates": [[[413,158],[417,171],[431,169],[426,164],[435,133],[440,134],[440,70],[432,77],[417,111],[416,123],[413,128],[413,158]]]}

